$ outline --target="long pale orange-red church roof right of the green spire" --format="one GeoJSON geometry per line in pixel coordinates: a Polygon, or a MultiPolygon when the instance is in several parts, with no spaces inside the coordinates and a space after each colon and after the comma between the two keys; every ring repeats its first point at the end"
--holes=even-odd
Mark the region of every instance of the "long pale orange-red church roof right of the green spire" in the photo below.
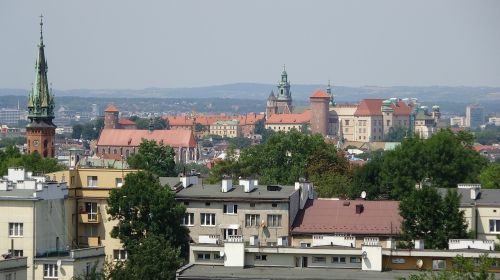
{"type": "Polygon", "coordinates": [[[142,139],[156,140],[157,143],[163,142],[171,147],[196,147],[191,130],[153,130],[149,132],[143,129],[112,129],[102,130],[98,146],[120,146],[137,147],[142,139]]]}

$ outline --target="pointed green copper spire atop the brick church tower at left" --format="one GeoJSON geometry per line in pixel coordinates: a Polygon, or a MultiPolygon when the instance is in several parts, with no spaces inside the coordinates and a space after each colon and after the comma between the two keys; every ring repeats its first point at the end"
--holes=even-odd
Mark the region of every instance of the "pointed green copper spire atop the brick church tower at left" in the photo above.
{"type": "Polygon", "coordinates": [[[35,65],[35,82],[28,98],[29,119],[45,118],[51,121],[54,118],[54,97],[49,90],[47,69],[43,44],[43,15],[40,15],[40,43],[35,65]]]}

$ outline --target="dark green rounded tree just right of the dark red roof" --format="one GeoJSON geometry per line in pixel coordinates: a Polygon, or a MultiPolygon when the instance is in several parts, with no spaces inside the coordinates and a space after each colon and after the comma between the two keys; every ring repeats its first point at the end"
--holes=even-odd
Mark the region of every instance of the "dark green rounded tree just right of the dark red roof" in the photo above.
{"type": "Polygon", "coordinates": [[[444,198],[432,186],[413,190],[399,205],[403,238],[423,239],[428,248],[446,249],[449,239],[467,237],[459,201],[455,190],[448,190],[444,198]]]}

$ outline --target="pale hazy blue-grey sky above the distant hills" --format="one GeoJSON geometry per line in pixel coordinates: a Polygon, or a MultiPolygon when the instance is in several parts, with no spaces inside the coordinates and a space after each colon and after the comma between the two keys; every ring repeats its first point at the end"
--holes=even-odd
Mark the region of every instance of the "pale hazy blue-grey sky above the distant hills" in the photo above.
{"type": "Polygon", "coordinates": [[[0,1],[0,88],[500,86],[500,1],[0,1]]]}

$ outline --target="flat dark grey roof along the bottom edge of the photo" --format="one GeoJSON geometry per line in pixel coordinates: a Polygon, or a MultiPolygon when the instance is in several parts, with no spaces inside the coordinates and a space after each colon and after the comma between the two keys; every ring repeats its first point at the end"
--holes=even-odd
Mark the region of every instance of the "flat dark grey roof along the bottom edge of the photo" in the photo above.
{"type": "Polygon", "coordinates": [[[177,279],[397,279],[415,270],[362,271],[351,268],[224,267],[195,264],[177,271],[177,279]]]}

